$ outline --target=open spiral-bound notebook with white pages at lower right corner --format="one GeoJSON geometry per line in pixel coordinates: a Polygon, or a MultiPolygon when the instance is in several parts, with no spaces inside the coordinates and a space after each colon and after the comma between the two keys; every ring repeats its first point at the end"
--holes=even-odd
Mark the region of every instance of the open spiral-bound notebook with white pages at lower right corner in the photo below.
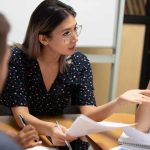
{"type": "Polygon", "coordinates": [[[127,127],[123,129],[124,132],[118,139],[119,144],[127,145],[132,149],[137,147],[141,150],[150,149],[150,134],[143,133],[133,127],[127,127]],[[133,148],[132,148],[133,147],[133,148]]]}

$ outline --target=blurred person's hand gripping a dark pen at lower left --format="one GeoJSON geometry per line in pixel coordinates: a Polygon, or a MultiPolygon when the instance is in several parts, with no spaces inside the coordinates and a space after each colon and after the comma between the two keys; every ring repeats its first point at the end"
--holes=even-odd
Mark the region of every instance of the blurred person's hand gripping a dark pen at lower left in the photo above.
{"type": "Polygon", "coordinates": [[[25,126],[14,138],[23,148],[34,147],[42,143],[39,141],[38,132],[31,125],[25,126]]]}

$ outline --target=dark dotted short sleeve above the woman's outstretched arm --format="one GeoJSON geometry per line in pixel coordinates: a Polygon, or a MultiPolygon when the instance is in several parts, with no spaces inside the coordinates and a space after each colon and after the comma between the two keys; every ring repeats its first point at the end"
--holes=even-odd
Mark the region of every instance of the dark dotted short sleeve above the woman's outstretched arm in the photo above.
{"type": "Polygon", "coordinates": [[[72,104],[96,105],[91,64],[83,54],[77,56],[75,61],[75,66],[78,70],[78,75],[76,77],[79,82],[75,85],[73,90],[72,104]]]}

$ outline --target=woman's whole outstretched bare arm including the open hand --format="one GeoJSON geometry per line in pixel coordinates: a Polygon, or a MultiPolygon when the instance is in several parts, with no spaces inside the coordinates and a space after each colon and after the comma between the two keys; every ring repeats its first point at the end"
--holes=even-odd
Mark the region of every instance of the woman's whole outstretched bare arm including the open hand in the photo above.
{"type": "Polygon", "coordinates": [[[106,103],[102,106],[81,106],[80,110],[81,113],[89,116],[95,121],[101,121],[112,113],[114,113],[117,109],[119,109],[122,105],[126,104],[127,102],[131,103],[149,103],[150,105],[150,98],[145,96],[150,94],[150,90],[129,90],[118,98],[109,103],[106,103]]]}

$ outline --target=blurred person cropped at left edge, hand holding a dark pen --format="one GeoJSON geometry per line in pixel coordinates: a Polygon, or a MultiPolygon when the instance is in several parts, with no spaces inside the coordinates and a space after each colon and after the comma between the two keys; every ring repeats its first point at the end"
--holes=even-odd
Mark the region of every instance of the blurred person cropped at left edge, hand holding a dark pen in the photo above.
{"type": "MultiPolygon", "coordinates": [[[[0,92],[7,76],[10,57],[10,51],[6,44],[9,28],[9,23],[0,14],[0,92]]],[[[40,143],[38,133],[35,127],[31,125],[27,125],[18,133],[12,131],[7,131],[7,133],[0,132],[0,149],[2,150],[20,150],[39,145],[40,143]],[[34,142],[34,140],[37,140],[37,142],[34,142]]]]}

